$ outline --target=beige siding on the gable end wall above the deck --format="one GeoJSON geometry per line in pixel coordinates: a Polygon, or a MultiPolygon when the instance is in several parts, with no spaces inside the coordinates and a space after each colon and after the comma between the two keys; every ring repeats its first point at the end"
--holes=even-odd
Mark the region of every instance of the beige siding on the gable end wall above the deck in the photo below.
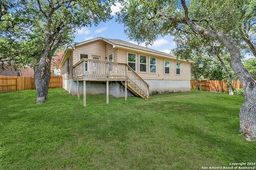
{"type": "Polygon", "coordinates": [[[92,59],[93,56],[97,56],[100,57],[100,60],[105,60],[105,41],[97,40],[76,47],[74,50],[73,65],[80,60],[80,53],[89,54],[89,59],[92,59]]]}

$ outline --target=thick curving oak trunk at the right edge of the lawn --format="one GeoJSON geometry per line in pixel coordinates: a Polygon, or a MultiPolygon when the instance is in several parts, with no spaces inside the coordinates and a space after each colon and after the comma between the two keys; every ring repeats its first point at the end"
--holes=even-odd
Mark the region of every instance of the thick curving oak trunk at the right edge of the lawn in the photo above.
{"type": "Polygon", "coordinates": [[[239,48],[233,41],[223,33],[215,30],[208,30],[200,27],[195,22],[191,22],[188,17],[188,8],[185,0],[181,0],[182,7],[185,12],[185,20],[189,27],[203,36],[214,38],[222,43],[230,53],[230,66],[241,81],[245,90],[245,99],[240,109],[240,132],[246,140],[252,141],[256,139],[256,84],[251,74],[245,69],[241,62],[241,54],[239,48]]]}

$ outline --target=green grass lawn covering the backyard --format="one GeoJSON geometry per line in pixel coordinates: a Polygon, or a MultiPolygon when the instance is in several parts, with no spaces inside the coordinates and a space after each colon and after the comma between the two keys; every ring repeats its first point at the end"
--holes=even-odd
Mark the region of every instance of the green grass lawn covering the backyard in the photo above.
{"type": "Polygon", "coordinates": [[[243,97],[181,92],[82,99],[50,89],[0,94],[0,169],[201,169],[255,162],[239,135],[243,97]]]}

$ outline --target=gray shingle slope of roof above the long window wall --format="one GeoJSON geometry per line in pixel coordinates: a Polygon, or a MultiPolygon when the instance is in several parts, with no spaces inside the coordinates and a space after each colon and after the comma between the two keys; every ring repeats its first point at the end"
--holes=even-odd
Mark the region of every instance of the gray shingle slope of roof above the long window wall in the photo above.
{"type": "Polygon", "coordinates": [[[161,55],[166,55],[166,56],[176,58],[175,56],[173,56],[171,54],[164,53],[164,52],[161,52],[161,51],[158,51],[158,50],[155,50],[155,49],[143,47],[143,46],[140,46],[140,45],[137,45],[137,44],[129,43],[129,42],[123,41],[121,39],[110,39],[110,38],[102,38],[102,39],[110,41],[111,43],[116,44],[116,45],[121,45],[121,46],[125,46],[125,47],[140,49],[140,50],[144,50],[146,52],[151,52],[151,53],[156,53],[156,54],[161,54],[161,55]]]}

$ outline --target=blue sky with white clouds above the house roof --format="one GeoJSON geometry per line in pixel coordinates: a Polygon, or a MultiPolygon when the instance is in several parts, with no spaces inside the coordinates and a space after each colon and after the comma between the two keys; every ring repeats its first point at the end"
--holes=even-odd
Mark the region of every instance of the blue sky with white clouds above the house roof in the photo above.
{"type": "MultiPolygon", "coordinates": [[[[124,41],[128,41],[130,43],[138,44],[134,40],[129,39],[124,33],[124,24],[120,24],[116,22],[116,12],[119,11],[121,5],[117,4],[116,6],[112,6],[111,15],[113,19],[107,22],[100,22],[97,27],[90,28],[82,28],[81,30],[77,30],[75,35],[75,43],[79,43],[85,40],[89,40],[96,37],[103,38],[113,38],[113,39],[121,39],[124,41]]],[[[172,40],[172,36],[159,36],[157,40],[154,42],[152,46],[148,46],[148,48],[160,50],[165,53],[170,53],[171,49],[175,48],[176,45],[172,40]]],[[[145,44],[139,44],[141,46],[145,46],[145,44]]]]}

